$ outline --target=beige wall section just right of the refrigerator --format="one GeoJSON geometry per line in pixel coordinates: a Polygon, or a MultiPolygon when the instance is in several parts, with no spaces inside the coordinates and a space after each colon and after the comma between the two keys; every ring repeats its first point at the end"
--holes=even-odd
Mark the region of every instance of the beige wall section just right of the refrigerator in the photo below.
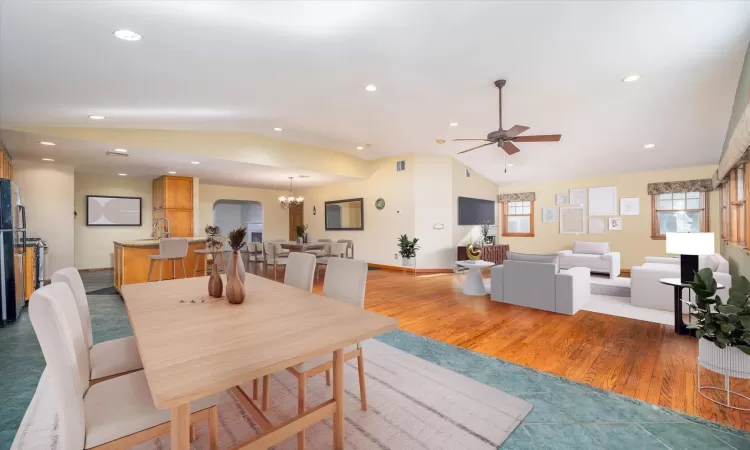
{"type": "Polygon", "coordinates": [[[21,188],[29,237],[41,237],[49,245],[49,279],[54,271],[74,263],[73,167],[14,159],[13,181],[21,188]]]}

